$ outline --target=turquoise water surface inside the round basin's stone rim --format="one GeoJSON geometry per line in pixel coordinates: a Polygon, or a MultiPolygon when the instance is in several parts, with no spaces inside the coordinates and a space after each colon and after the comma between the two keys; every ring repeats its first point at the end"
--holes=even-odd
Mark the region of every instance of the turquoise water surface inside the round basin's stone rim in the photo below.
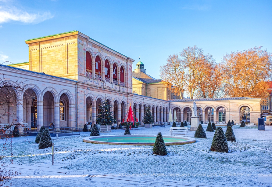
{"type": "MultiPolygon", "coordinates": [[[[112,137],[112,138],[95,138],[95,141],[108,141],[108,142],[118,142],[118,143],[154,143],[156,137],[112,137]]],[[[177,142],[186,141],[184,139],[178,138],[163,138],[164,142],[177,142]]]]}

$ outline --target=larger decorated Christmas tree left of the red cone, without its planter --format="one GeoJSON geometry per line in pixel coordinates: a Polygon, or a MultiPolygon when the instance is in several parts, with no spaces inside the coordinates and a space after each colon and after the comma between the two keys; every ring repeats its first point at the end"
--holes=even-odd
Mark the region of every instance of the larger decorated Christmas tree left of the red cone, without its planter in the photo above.
{"type": "Polygon", "coordinates": [[[97,123],[99,125],[112,125],[114,122],[114,116],[113,112],[110,111],[110,105],[109,102],[104,99],[102,103],[99,104],[98,108],[100,109],[100,112],[97,115],[97,123]]]}

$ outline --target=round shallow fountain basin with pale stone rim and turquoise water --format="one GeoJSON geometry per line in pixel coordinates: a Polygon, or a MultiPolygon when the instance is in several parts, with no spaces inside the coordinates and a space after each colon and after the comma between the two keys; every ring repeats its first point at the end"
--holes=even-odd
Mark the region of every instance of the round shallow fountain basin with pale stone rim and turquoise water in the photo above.
{"type": "MultiPolygon", "coordinates": [[[[156,136],[152,135],[111,135],[89,136],[83,138],[84,142],[110,145],[154,145],[156,136]]],[[[195,142],[195,138],[184,136],[163,136],[165,145],[182,145],[195,142]]]]}

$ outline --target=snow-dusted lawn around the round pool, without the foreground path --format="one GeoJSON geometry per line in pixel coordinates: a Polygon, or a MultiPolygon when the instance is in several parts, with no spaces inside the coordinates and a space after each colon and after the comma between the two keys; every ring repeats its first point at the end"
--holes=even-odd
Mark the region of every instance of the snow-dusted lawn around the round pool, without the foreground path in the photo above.
{"type": "MultiPolygon", "coordinates": [[[[193,144],[166,146],[167,156],[153,155],[152,146],[85,143],[83,138],[90,132],[82,132],[78,136],[54,139],[54,159],[55,165],[62,169],[120,177],[132,175],[226,186],[272,186],[272,127],[266,128],[267,131],[259,131],[256,127],[234,126],[237,142],[228,142],[229,153],[209,151],[214,132],[206,132],[207,139],[196,138],[193,144]]],[[[138,128],[131,130],[131,134],[156,135],[160,131],[169,135],[169,129],[170,126],[138,128]]],[[[124,130],[113,130],[100,135],[123,133],[124,130]]],[[[193,137],[194,131],[186,136],[193,137]]],[[[35,137],[13,138],[12,147],[16,164],[42,166],[51,162],[52,149],[39,150],[35,137]]],[[[5,156],[9,156],[8,152],[5,156]]],[[[5,157],[4,161],[9,159],[5,157]]],[[[16,179],[14,182],[16,184],[16,179]]],[[[81,184],[88,185],[88,181],[82,179],[81,184]]]]}

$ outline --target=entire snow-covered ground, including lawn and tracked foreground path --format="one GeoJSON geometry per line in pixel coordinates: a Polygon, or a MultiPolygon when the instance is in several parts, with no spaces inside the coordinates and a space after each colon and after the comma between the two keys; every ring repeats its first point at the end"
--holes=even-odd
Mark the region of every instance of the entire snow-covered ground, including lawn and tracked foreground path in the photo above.
{"type": "MultiPolygon", "coordinates": [[[[138,128],[131,134],[169,135],[170,127],[138,128]]],[[[205,129],[206,130],[206,129],[205,129]]],[[[223,127],[226,130],[226,127],[223,127]]],[[[229,153],[209,151],[214,132],[186,145],[167,146],[167,156],[152,154],[152,146],[101,145],[83,142],[90,132],[54,139],[38,149],[35,137],[13,138],[9,167],[22,172],[14,186],[272,186],[272,127],[233,127],[237,142],[229,153]]],[[[113,130],[101,135],[123,134],[113,130]]],[[[194,137],[194,131],[186,136],[194,137]]],[[[8,152],[4,153],[8,156],[8,152]]],[[[9,161],[4,158],[4,162],[9,161]]]]}

